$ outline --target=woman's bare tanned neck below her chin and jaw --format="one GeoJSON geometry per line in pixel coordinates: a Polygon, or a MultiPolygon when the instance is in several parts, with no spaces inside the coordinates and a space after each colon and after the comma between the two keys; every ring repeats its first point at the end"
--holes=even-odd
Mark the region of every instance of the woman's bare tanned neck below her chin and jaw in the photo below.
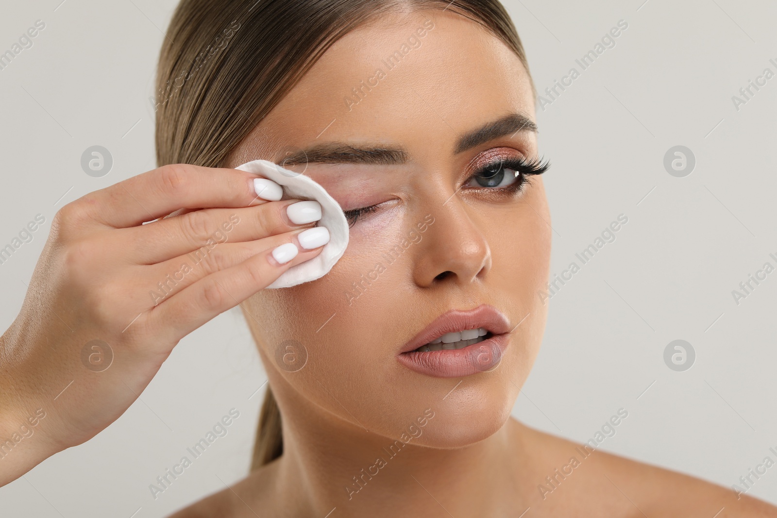
{"type": "Polygon", "coordinates": [[[420,434],[394,440],[296,403],[283,405],[276,481],[277,497],[295,502],[294,516],[333,508],[336,516],[382,516],[387,507],[392,516],[500,516],[505,509],[512,516],[528,501],[518,483],[528,459],[523,427],[513,419],[485,440],[440,449],[421,446],[420,434]]]}

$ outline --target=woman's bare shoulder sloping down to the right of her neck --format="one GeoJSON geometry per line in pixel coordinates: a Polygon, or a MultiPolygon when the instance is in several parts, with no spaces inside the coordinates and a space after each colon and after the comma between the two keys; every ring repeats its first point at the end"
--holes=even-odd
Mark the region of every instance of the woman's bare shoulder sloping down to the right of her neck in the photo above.
{"type": "Polygon", "coordinates": [[[777,507],[731,488],[520,426],[518,436],[533,447],[539,467],[532,475],[538,509],[567,516],[777,518],[777,507]]]}

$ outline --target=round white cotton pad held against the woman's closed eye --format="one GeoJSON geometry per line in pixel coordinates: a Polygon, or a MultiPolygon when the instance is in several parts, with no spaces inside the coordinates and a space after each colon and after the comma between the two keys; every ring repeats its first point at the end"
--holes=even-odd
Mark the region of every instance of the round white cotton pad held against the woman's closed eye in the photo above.
{"type": "Polygon", "coordinates": [[[239,165],[235,169],[253,172],[256,175],[273,180],[284,189],[284,199],[316,200],[321,204],[321,220],[317,226],[329,230],[329,242],[321,253],[296,266],[291,266],[268,288],[287,288],[306,283],[325,276],[343,256],[348,246],[348,221],[337,203],[322,186],[308,176],[290,171],[269,160],[254,160],[239,165]]]}

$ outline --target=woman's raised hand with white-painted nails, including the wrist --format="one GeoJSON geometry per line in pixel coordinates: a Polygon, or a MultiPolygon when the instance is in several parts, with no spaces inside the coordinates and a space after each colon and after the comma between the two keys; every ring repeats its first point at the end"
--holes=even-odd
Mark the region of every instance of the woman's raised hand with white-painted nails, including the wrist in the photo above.
{"type": "Polygon", "coordinates": [[[263,200],[256,178],[166,165],[57,212],[0,342],[0,485],[95,436],[183,336],[321,252],[318,203],[270,180],[263,200]]]}

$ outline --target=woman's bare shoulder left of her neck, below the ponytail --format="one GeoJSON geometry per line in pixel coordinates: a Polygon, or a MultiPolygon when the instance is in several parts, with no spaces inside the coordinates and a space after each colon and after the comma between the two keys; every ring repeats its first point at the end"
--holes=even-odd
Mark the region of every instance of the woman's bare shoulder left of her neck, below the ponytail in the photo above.
{"type": "Polygon", "coordinates": [[[278,461],[252,471],[229,488],[180,509],[169,518],[242,518],[242,516],[279,516],[274,513],[274,481],[278,461]],[[257,492],[257,488],[259,491],[257,492]]]}

